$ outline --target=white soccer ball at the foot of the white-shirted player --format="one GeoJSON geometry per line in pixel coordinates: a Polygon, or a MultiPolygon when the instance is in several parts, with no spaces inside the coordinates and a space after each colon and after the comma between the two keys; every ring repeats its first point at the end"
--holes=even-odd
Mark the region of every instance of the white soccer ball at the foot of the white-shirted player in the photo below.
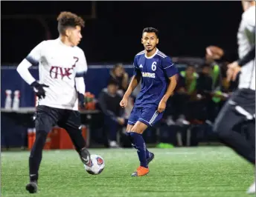
{"type": "Polygon", "coordinates": [[[102,173],[105,167],[105,161],[101,156],[91,155],[91,163],[89,165],[84,165],[87,173],[91,175],[98,175],[102,173]]]}

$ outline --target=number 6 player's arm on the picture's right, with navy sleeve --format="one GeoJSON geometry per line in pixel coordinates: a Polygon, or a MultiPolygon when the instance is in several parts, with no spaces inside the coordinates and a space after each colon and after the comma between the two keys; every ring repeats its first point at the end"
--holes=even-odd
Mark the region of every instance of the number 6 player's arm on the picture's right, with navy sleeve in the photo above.
{"type": "Polygon", "coordinates": [[[159,113],[162,113],[165,110],[167,100],[171,95],[173,95],[173,91],[175,90],[177,84],[176,74],[178,73],[176,65],[171,61],[169,57],[166,57],[161,61],[161,67],[163,68],[164,73],[167,75],[168,79],[170,80],[170,83],[163,98],[161,98],[161,101],[159,102],[159,113]]]}

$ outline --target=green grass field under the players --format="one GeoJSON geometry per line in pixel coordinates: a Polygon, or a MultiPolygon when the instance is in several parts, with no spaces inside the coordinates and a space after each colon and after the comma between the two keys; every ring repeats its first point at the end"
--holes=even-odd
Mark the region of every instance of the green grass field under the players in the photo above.
{"type": "Polygon", "coordinates": [[[29,194],[29,152],[1,153],[1,196],[181,196],[239,197],[254,181],[253,167],[226,147],[150,149],[156,158],[150,173],[131,177],[138,167],[132,149],[91,149],[103,156],[106,167],[89,175],[74,150],[43,153],[39,193],[29,194]]]}

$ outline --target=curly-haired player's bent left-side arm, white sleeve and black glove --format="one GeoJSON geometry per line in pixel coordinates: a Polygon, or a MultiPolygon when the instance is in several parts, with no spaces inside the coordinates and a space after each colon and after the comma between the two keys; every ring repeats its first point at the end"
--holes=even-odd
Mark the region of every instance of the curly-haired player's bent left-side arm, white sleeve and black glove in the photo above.
{"type": "Polygon", "coordinates": [[[39,99],[45,98],[45,90],[43,87],[48,86],[45,84],[39,84],[36,79],[33,78],[28,68],[30,68],[32,65],[38,64],[41,60],[41,50],[43,44],[44,41],[34,47],[33,50],[31,50],[31,53],[29,53],[28,56],[22,60],[16,69],[22,79],[31,85],[31,87],[34,87],[36,96],[38,96],[39,99]]]}

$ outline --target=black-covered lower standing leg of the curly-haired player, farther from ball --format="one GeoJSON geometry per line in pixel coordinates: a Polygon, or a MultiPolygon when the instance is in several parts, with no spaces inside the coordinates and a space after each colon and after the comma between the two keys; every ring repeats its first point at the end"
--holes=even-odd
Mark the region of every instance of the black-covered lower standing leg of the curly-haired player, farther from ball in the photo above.
{"type": "Polygon", "coordinates": [[[36,131],[36,140],[33,143],[31,155],[29,156],[29,174],[31,181],[37,181],[39,165],[42,160],[42,150],[48,133],[45,131],[36,131]]]}

